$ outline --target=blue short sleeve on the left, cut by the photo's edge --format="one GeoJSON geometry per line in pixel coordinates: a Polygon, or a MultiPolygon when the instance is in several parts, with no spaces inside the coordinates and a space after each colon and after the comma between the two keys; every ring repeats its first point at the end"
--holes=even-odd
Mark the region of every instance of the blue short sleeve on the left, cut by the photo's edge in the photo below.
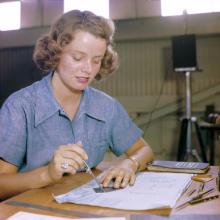
{"type": "Polygon", "coordinates": [[[0,109],[0,158],[19,166],[26,153],[26,120],[18,102],[0,109]]]}

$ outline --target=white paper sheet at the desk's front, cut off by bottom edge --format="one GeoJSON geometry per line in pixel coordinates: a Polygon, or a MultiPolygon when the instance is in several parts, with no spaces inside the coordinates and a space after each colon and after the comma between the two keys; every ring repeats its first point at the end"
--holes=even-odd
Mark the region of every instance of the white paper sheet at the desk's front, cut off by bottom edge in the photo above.
{"type": "MultiPolygon", "coordinates": [[[[7,220],[68,220],[70,218],[40,215],[30,212],[17,212],[7,220]]],[[[71,218],[73,219],[73,218],[71,218]]],[[[124,217],[74,218],[74,220],[126,220],[124,217]]]]}

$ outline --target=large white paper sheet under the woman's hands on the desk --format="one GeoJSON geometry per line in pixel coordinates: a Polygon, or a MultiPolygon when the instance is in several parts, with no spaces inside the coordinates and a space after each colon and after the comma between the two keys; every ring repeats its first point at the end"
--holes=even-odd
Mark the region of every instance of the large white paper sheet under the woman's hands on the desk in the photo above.
{"type": "MultiPolygon", "coordinates": [[[[125,210],[173,208],[191,182],[192,174],[141,172],[134,186],[106,193],[96,193],[94,180],[70,192],[54,196],[58,203],[101,206],[125,210]]],[[[98,177],[99,178],[99,177],[98,177]]]]}

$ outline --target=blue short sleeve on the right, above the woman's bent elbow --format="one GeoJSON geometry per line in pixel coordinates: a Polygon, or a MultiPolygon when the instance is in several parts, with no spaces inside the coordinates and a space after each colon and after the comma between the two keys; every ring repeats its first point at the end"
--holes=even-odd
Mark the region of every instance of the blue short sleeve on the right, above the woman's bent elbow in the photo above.
{"type": "Polygon", "coordinates": [[[141,137],[142,133],[124,107],[115,100],[110,121],[110,148],[112,152],[120,156],[141,137]]]}

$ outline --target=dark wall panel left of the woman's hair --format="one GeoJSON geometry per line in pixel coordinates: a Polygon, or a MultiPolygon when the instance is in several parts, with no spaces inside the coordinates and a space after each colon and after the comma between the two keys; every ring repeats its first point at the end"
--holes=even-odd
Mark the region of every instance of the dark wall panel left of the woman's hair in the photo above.
{"type": "Polygon", "coordinates": [[[11,93],[41,78],[32,53],[33,47],[0,50],[0,106],[11,93]]]}

